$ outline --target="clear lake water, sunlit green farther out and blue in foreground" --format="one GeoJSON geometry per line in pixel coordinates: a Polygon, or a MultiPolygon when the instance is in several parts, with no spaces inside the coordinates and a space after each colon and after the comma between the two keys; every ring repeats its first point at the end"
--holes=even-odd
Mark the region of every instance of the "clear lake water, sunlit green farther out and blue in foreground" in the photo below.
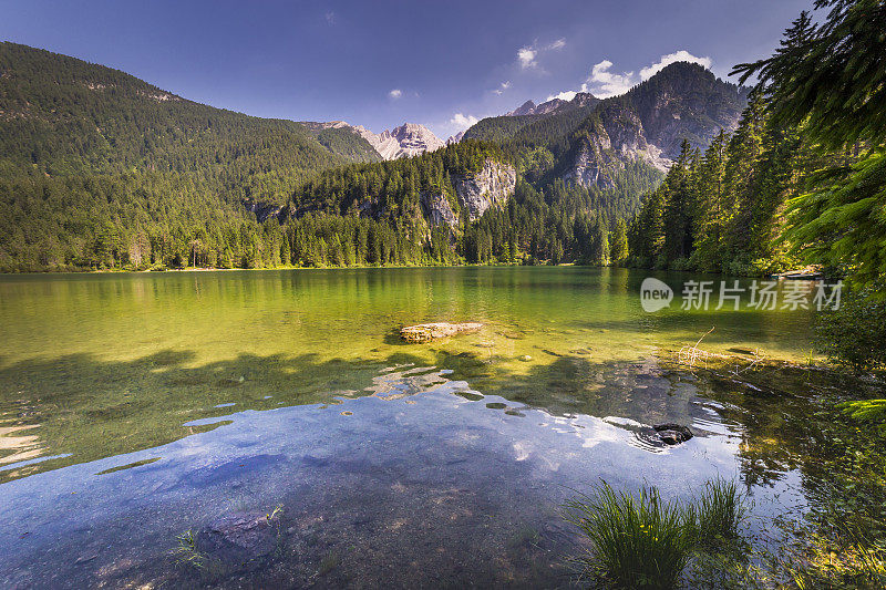
{"type": "Polygon", "coordinates": [[[712,325],[709,350],[803,358],[808,314],[648,314],[642,278],[0,278],[0,586],[567,586],[557,505],[599,478],[688,496],[738,476],[771,534],[804,505],[797,457],[749,426],[741,384],[670,361],[712,325]],[[423,321],[485,327],[400,342],[423,321]],[[698,436],[662,448],[658,422],[698,436]],[[276,507],[210,571],[175,565],[177,535],[276,507]]]}

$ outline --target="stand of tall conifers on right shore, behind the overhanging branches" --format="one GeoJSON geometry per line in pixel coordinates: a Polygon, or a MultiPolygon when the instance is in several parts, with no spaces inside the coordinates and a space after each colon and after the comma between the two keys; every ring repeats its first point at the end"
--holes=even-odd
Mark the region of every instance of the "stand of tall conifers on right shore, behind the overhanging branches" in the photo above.
{"type": "Polygon", "coordinates": [[[813,157],[795,133],[773,128],[752,95],[739,127],[699,154],[684,143],[631,224],[630,262],[647,268],[764,275],[791,266],[780,236],[785,201],[813,157]]]}

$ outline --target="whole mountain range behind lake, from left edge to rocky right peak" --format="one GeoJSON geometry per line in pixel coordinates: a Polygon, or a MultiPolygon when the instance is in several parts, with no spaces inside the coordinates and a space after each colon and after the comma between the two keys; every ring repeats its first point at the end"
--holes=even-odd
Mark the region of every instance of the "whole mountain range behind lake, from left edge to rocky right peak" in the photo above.
{"type": "Polygon", "coordinates": [[[0,271],[602,261],[682,137],[730,128],[745,94],[676,64],[443,146],[416,124],[251,117],[3,43],[0,271]]]}

